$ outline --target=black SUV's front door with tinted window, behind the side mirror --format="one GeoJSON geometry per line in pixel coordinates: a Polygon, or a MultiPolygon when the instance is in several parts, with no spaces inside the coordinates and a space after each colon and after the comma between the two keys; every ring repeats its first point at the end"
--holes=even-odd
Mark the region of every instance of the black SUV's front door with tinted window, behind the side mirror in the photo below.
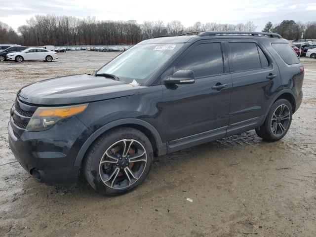
{"type": "Polygon", "coordinates": [[[167,70],[172,75],[190,69],[196,78],[193,84],[162,86],[168,152],[226,135],[232,82],[223,48],[220,41],[198,42],[167,70]]]}

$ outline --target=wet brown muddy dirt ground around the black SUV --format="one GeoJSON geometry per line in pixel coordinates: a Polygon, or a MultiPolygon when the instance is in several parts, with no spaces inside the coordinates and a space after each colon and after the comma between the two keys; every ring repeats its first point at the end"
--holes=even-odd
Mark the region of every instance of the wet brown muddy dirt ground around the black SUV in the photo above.
{"type": "Polygon", "coordinates": [[[316,236],[316,60],[302,58],[303,103],[281,141],[249,131],[159,157],[143,185],[104,197],[82,178],[78,187],[35,182],[8,146],[20,87],[91,72],[117,53],[59,55],[52,63],[0,63],[1,237],[316,236]]]}

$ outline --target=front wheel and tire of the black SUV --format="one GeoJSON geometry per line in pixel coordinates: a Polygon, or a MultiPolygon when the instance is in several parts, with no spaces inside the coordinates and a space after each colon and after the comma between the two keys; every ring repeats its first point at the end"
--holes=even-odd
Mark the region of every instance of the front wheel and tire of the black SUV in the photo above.
{"type": "Polygon", "coordinates": [[[140,185],[152,162],[153,147],[147,136],[137,129],[121,127],[104,133],[90,146],[83,173],[97,192],[115,196],[140,185]]]}

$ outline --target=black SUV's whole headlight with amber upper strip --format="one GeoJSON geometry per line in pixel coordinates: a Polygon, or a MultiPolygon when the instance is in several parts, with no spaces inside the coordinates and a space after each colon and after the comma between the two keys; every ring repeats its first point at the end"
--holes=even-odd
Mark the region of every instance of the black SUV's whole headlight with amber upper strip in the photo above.
{"type": "Polygon", "coordinates": [[[88,104],[65,107],[39,107],[30,119],[26,131],[38,132],[48,130],[59,120],[79,114],[87,106],[88,104]]]}

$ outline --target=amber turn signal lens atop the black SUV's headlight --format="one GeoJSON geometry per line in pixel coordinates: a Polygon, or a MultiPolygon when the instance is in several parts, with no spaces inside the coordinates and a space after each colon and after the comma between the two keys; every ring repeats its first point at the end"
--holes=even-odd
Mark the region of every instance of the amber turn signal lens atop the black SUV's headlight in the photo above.
{"type": "Polygon", "coordinates": [[[84,105],[75,105],[75,106],[66,106],[66,107],[52,107],[52,108],[38,108],[35,112],[35,116],[39,117],[50,117],[57,116],[60,118],[69,117],[76,115],[87,108],[88,104],[84,105]]]}

